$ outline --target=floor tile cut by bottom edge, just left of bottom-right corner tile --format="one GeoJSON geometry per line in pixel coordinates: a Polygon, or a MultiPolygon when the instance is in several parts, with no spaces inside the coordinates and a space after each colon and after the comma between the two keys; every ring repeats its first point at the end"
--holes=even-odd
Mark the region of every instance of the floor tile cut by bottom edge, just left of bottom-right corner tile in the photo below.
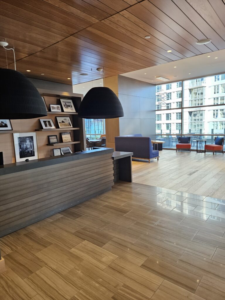
{"type": "Polygon", "coordinates": [[[176,284],[164,280],[151,298],[152,300],[204,300],[192,292],[183,289],[176,284]]]}

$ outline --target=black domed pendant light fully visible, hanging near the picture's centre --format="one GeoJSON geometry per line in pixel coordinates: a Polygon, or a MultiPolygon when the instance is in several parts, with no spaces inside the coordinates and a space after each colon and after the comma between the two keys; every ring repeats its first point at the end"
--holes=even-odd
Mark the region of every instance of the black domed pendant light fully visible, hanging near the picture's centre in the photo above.
{"type": "Polygon", "coordinates": [[[84,119],[114,119],[123,116],[119,98],[106,87],[91,88],[84,96],[78,111],[78,117],[84,119]]]}

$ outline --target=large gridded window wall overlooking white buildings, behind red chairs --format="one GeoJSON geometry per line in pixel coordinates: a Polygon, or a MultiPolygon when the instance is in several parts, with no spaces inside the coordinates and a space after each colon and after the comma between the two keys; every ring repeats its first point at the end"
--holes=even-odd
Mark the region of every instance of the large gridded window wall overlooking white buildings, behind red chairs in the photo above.
{"type": "Polygon", "coordinates": [[[165,148],[175,148],[179,134],[213,143],[225,135],[225,74],[156,86],[156,134],[165,148]],[[197,135],[197,136],[196,136],[197,135]],[[199,135],[199,136],[198,136],[199,135]]]}

